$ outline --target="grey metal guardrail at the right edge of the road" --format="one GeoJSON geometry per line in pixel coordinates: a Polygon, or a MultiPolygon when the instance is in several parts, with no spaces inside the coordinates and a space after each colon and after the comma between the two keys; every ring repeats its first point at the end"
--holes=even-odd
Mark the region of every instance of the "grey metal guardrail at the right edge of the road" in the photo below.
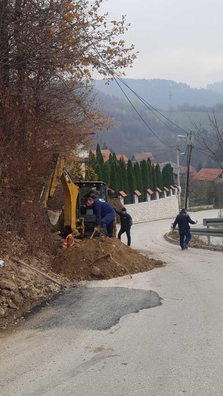
{"type": "MultiPolygon", "coordinates": [[[[200,235],[200,236],[207,236],[208,237],[208,246],[210,246],[211,236],[216,236],[219,238],[223,238],[223,228],[213,229],[210,226],[223,226],[223,219],[203,219],[203,225],[206,225],[207,228],[190,228],[191,235],[200,235]]],[[[177,232],[179,232],[178,227],[175,228],[177,232]]],[[[171,224],[171,231],[173,231],[173,223],[171,224]]]]}

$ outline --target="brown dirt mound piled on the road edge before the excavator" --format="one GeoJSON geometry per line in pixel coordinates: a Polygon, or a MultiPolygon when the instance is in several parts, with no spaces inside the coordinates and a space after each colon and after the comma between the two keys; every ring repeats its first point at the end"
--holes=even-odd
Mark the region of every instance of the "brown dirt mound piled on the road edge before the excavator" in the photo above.
{"type": "Polygon", "coordinates": [[[144,272],[162,264],[162,261],[150,259],[117,238],[106,237],[85,239],[67,251],[59,252],[52,262],[52,270],[67,276],[70,281],[95,280],[144,272]],[[119,265],[112,260],[110,253],[119,265]]]}

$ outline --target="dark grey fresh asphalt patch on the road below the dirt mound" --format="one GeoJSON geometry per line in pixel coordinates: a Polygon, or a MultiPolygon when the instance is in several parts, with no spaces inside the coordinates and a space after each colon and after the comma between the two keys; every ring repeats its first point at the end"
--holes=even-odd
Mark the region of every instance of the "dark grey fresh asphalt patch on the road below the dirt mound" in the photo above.
{"type": "Polygon", "coordinates": [[[161,297],[153,290],[77,287],[58,293],[44,309],[42,305],[36,307],[29,318],[37,314],[37,320],[29,321],[29,325],[43,331],[56,327],[108,330],[122,316],[158,305],[161,305],[161,297]]]}

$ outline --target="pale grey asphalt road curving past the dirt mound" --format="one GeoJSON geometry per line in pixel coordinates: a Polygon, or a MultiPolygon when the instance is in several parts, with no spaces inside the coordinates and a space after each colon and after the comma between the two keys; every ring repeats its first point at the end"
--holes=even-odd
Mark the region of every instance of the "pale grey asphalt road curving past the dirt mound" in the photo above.
{"type": "Polygon", "coordinates": [[[223,394],[222,253],[182,252],[163,239],[170,223],[131,233],[164,268],[60,294],[1,341],[4,396],[223,394]]]}

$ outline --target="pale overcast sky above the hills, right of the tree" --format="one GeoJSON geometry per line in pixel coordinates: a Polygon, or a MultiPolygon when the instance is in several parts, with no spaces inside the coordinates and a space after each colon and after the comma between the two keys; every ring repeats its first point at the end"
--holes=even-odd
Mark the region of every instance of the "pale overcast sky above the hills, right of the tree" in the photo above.
{"type": "Polygon", "coordinates": [[[223,0],[108,0],[127,14],[128,44],[140,51],[129,78],[165,78],[193,87],[223,80],[223,0]]]}

